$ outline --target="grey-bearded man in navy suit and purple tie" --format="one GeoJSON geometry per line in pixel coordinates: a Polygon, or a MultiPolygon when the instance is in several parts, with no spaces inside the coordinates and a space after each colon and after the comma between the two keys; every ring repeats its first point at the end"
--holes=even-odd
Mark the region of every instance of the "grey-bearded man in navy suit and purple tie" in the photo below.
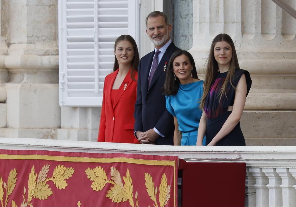
{"type": "Polygon", "coordinates": [[[154,11],[146,17],[146,33],[155,50],[141,58],[135,104],[135,136],[144,144],[173,145],[174,119],[165,107],[163,85],[170,56],[179,48],[170,40],[168,16],[154,11]]]}

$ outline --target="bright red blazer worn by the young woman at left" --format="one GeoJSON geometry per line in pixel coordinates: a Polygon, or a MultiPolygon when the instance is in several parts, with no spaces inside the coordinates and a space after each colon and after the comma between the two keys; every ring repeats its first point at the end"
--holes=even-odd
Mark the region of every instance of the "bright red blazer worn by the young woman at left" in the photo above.
{"type": "MultiPolygon", "coordinates": [[[[118,71],[105,78],[98,142],[139,143],[133,130],[137,82],[131,79],[131,70],[118,88],[114,105],[111,103],[111,90],[118,71]]],[[[135,72],[135,79],[138,79],[138,72],[135,72]]]]}

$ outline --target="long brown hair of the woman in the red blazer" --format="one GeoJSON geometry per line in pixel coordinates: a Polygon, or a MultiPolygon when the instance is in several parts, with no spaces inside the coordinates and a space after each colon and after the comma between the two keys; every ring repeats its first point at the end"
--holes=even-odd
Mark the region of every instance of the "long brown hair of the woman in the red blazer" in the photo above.
{"type": "MultiPolygon", "coordinates": [[[[133,46],[134,56],[133,56],[133,60],[131,61],[131,79],[132,80],[136,80],[135,79],[135,71],[138,71],[139,62],[140,62],[140,57],[139,57],[139,51],[138,51],[137,43],[133,39],[133,37],[131,35],[121,35],[115,41],[114,51],[116,50],[117,44],[120,41],[123,41],[123,40],[130,42],[132,44],[132,46],[133,46]]],[[[119,64],[118,64],[118,60],[117,60],[116,55],[115,55],[113,72],[115,72],[116,70],[118,70],[118,68],[119,68],[119,64]]]]}

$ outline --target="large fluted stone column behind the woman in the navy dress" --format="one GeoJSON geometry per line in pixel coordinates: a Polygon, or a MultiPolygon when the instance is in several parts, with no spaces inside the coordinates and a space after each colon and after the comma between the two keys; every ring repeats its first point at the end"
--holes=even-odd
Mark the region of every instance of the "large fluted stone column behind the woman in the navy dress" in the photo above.
{"type": "MultiPolygon", "coordinates": [[[[296,20],[270,0],[194,0],[193,47],[203,77],[213,38],[227,33],[252,88],[241,126],[247,145],[296,144],[296,20]]],[[[296,2],[287,0],[296,7],[296,2]]]]}

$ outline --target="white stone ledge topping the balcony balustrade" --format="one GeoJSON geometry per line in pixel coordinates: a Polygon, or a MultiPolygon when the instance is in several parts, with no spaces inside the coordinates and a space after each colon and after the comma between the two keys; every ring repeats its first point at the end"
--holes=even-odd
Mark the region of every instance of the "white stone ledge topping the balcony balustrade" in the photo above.
{"type": "Polygon", "coordinates": [[[247,167],[296,167],[294,146],[164,146],[0,138],[0,149],[178,156],[189,161],[246,162],[247,167]]]}

